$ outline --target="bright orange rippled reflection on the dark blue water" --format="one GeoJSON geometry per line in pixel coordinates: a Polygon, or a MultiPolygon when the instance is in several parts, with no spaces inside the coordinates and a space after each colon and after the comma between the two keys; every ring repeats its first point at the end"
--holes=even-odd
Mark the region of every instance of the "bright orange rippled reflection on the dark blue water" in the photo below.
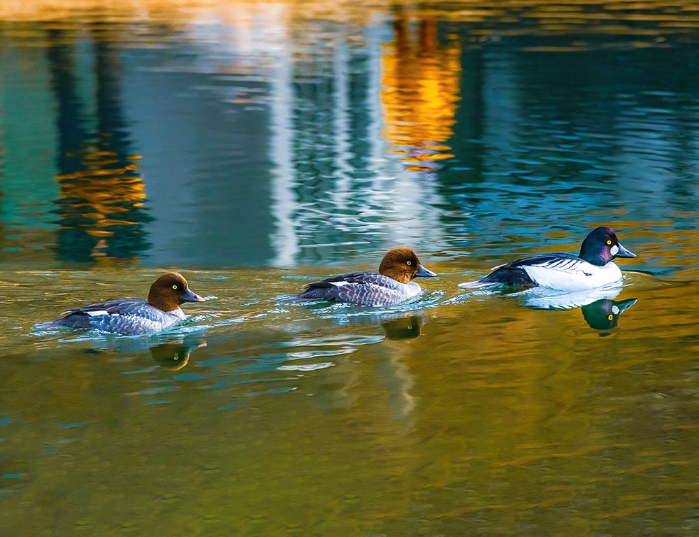
{"type": "Polygon", "coordinates": [[[435,17],[420,18],[415,38],[407,17],[399,15],[393,27],[394,41],[382,56],[384,138],[406,154],[408,170],[429,170],[453,156],[445,142],[461,99],[461,45],[440,44],[435,17]]]}

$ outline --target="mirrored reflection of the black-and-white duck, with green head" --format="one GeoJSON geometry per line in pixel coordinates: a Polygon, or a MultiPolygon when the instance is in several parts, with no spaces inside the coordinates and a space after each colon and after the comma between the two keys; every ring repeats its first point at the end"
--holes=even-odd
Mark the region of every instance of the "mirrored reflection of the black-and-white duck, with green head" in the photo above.
{"type": "Polygon", "coordinates": [[[516,293],[524,296],[524,305],[545,310],[570,310],[580,308],[582,316],[591,329],[607,331],[617,327],[619,316],[633,306],[637,299],[614,300],[621,293],[622,286],[600,287],[584,292],[561,293],[536,287],[516,293]]]}

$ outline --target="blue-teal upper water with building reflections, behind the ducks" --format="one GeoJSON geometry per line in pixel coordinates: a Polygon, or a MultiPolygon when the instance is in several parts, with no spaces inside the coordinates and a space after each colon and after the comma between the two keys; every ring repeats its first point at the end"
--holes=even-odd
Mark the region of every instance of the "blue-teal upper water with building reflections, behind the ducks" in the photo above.
{"type": "Polygon", "coordinates": [[[581,214],[695,228],[699,24],[667,3],[59,7],[0,6],[8,263],[54,242],[208,268],[399,240],[501,259],[512,227],[581,214]]]}

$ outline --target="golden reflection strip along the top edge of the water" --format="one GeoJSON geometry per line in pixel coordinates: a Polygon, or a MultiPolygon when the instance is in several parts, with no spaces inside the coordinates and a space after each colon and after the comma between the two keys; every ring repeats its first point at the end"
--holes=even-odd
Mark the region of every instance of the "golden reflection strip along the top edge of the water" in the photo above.
{"type": "MultiPolygon", "coordinates": [[[[217,15],[226,24],[250,17],[250,8],[261,8],[269,18],[280,18],[287,24],[304,24],[308,20],[334,20],[355,24],[371,24],[372,15],[389,16],[391,10],[410,9],[418,17],[464,22],[475,30],[475,41],[483,36],[565,33],[584,30],[594,34],[633,35],[647,33],[665,35],[673,30],[699,28],[699,8],[695,0],[648,0],[619,2],[607,0],[499,0],[488,4],[471,0],[444,3],[430,0],[376,1],[370,5],[358,2],[329,0],[3,0],[0,19],[16,21],[48,21],[79,16],[80,22],[105,17],[114,22],[150,21],[159,23],[196,24],[200,17],[210,20],[217,15]],[[247,11],[247,13],[246,13],[247,11]],[[291,15],[291,17],[288,17],[291,15]],[[288,17],[288,18],[287,18],[288,17]],[[526,24],[522,24],[522,22],[526,24]],[[637,23],[648,23],[639,27],[637,23]]],[[[19,35],[19,34],[17,34],[19,35]]],[[[144,36],[146,37],[146,36],[144,36]]],[[[133,34],[130,39],[138,38],[133,34]]]]}

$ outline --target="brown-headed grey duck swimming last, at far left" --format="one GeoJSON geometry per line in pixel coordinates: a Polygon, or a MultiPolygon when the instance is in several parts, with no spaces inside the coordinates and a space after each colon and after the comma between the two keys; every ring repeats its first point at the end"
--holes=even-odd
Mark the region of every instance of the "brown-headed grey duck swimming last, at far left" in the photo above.
{"type": "Polygon", "coordinates": [[[146,334],[164,330],[184,319],[180,304],[203,301],[187,287],[187,280],[181,274],[168,272],[150,286],[147,301],[118,299],[71,308],[65,317],[38,323],[36,327],[96,328],[117,334],[146,334]]]}

